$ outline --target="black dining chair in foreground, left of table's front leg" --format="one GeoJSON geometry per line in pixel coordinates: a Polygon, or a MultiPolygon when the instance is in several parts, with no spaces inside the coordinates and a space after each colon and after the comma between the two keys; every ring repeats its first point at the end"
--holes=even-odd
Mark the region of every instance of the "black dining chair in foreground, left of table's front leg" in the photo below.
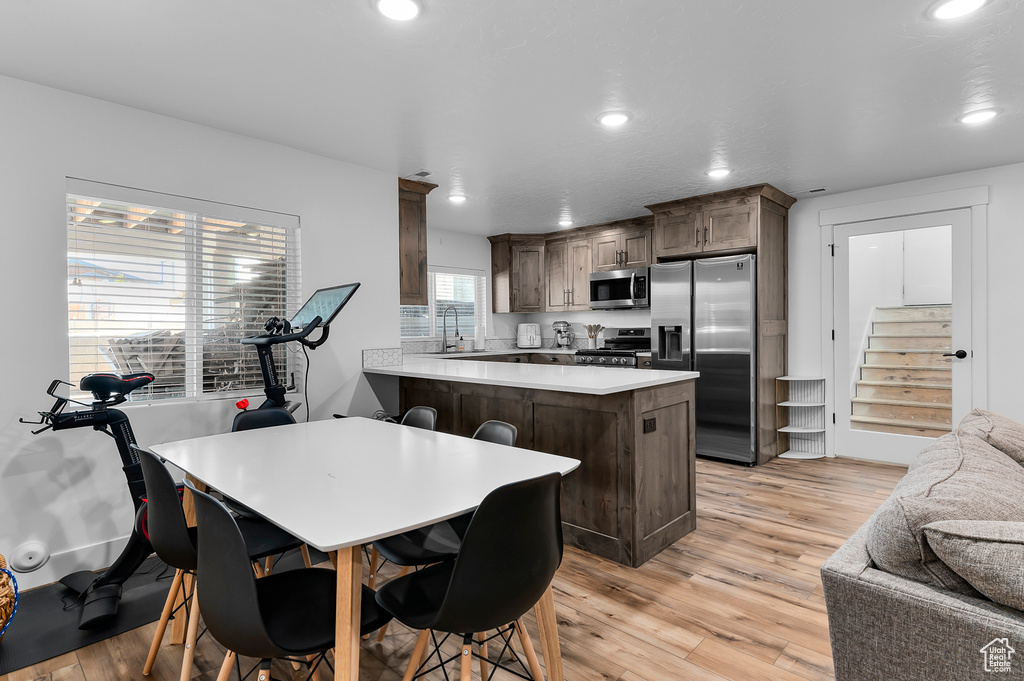
{"type": "MultiPolygon", "coordinates": [[[[306,664],[315,671],[335,642],[335,571],[312,567],[255,579],[238,520],[216,499],[185,484],[196,499],[203,619],[230,651],[221,676],[237,655],[258,658],[263,681],[269,681],[272,659],[306,664]]],[[[369,587],[362,587],[361,596],[360,631],[368,634],[391,615],[369,587]]]]}

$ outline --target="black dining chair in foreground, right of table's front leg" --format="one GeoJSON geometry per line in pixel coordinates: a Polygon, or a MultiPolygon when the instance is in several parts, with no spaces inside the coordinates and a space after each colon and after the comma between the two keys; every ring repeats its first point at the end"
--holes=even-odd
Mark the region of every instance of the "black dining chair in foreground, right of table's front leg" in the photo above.
{"type": "Polygon", "coordinates": [[[473,656],[480,661],[481,679],[486,679],[486,665],[498,664],[506,652],[531,678],[543,679],[522,615],[544,595],[562,560],[560,484],[561,475],[551,473],[495,490],[473,514],[454,561],[425,567],[380,588],[377,602],[398,622],[421,630],[403,681],[444,667],[456,657],[462,659],[461,678],[468,679],[473,656]],[[525,665],[511,647],[512,629],[522,645],[525,665]],[[484,633],[492,630],[497,633],[486,637],[484,633]],[[445,636],[438,641],[431,632],[445,636]],[[453,634],[462,637],[461,654],[445,659],[440,646],[453,634]],[[478,654],[473,652],[474,634],[478,654]],[[430,638],[435,650],[424,659],[430,638]],[[489,661],[487,641],[496,638],[503,648],[497,661],[489,661]],[[425,669],[433,655],[437,664],[425,669]]]}

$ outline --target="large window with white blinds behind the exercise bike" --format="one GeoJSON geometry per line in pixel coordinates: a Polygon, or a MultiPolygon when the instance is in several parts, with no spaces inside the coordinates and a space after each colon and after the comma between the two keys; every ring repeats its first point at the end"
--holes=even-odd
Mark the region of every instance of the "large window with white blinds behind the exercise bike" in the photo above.
{"type": "MultiPolygon", "coordinates": [[[[256,351],[240,340],[298,307],[298,218],[82,188],[93,190],[68,194],[71,382],[154,374],[136,400],[261,389],[256,351]]],[[[275,360],[282,377],[301,370],[284,350],[275,360]]]]}

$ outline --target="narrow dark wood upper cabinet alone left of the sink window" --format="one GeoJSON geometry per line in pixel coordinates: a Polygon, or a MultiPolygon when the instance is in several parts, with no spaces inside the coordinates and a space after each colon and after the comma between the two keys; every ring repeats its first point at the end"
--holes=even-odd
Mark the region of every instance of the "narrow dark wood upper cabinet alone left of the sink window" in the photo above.
{"type": "Polygon", "coordinates": [[[426,305],[429,182],[398,180],[398,281],[401,305],[426,305]]]}

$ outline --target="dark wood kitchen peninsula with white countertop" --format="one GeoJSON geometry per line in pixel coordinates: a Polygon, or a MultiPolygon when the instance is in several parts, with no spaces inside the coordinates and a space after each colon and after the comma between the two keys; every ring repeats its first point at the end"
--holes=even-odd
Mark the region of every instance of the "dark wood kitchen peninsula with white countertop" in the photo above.
{"type": "Polygon", "coordinates": [[[440,431],[499,419],[519,446],[582,461],[562,482],[570,546],[637,567],[694,528],[698,374],[455,356],[364,372],[398,377],[400,409],[433,407],[440,431]]]}

